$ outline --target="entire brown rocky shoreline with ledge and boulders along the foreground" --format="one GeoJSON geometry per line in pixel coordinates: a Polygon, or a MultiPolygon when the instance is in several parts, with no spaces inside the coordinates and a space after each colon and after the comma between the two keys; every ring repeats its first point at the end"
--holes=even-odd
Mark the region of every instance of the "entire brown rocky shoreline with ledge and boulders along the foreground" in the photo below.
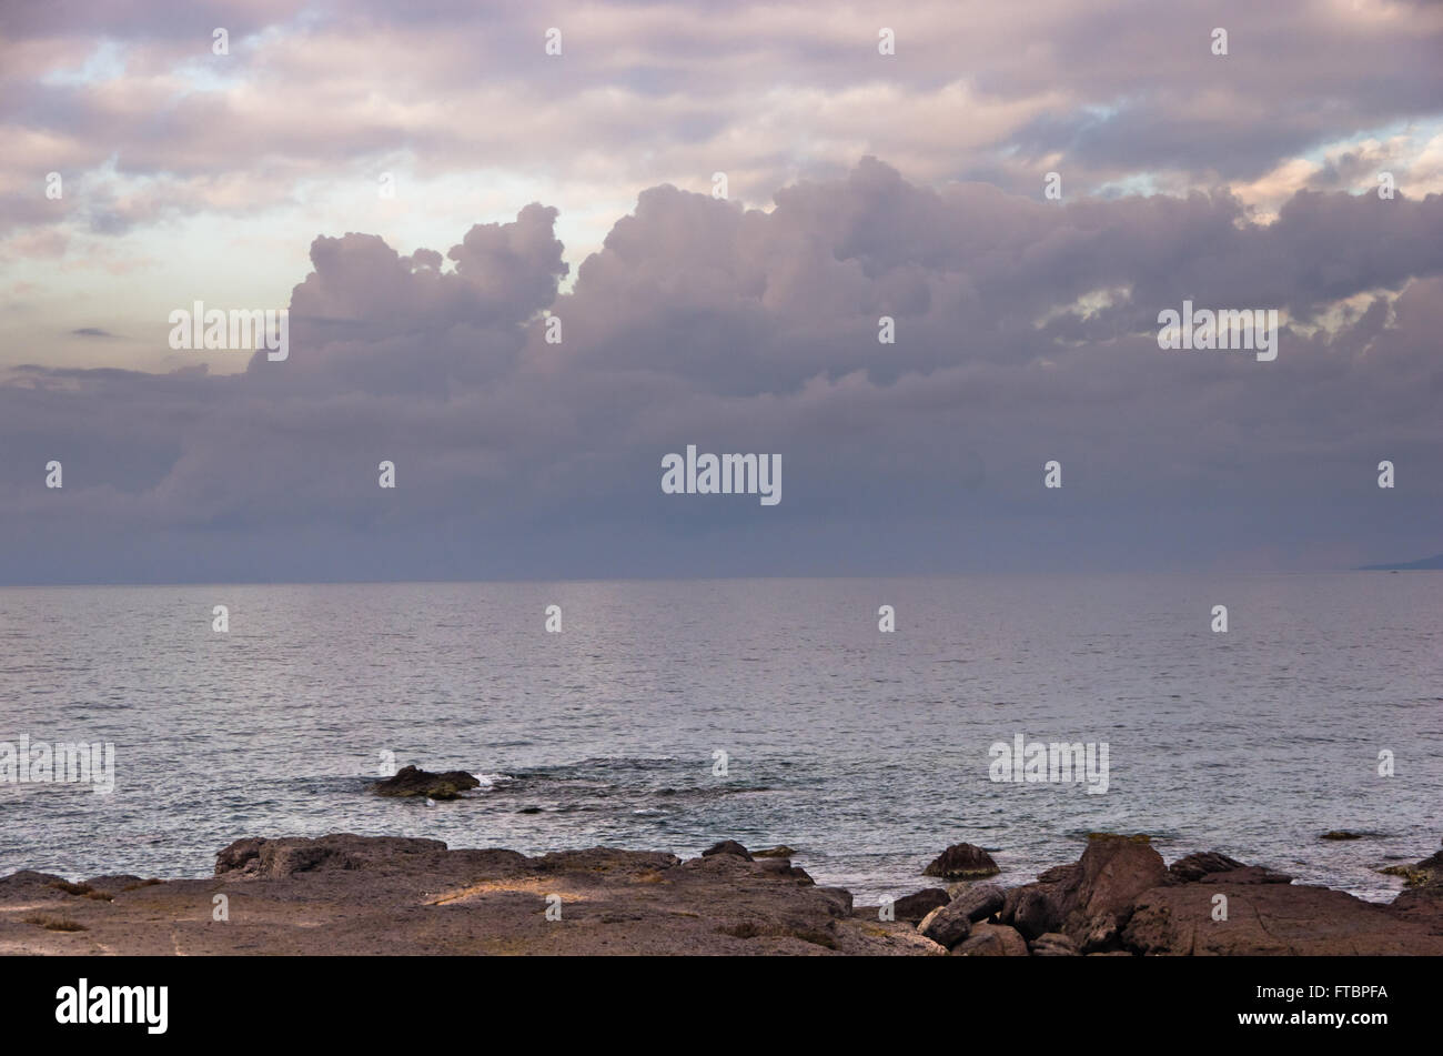
{"type": "Polygon", "coordinates": [[[928,873],[960,883],[883,906],[815,884],[789,853],[723,841],[688,860],[525,857],[400,837],[247,838],[206,880],[3,877],[0,954],[1443,954],[1443,851],[1375,905],[1216,851],[1169,866],[1147,837],[1115,834],[1001,889],[986,880],[990,855],[957,844],[928,873]]]}

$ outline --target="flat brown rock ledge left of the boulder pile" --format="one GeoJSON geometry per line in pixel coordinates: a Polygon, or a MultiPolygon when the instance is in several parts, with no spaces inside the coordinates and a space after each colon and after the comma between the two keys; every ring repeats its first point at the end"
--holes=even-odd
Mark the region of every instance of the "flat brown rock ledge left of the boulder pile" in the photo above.
{"type": "Polygon", "coordinates": [[[740,844],[683,861],[609,847],[527,857],[398,837],[247,838],[206,880],[3,877],[0,954],[944,952],[913,923],[856,916],[848,892],[789,858],[750,857],[740,844]]]}

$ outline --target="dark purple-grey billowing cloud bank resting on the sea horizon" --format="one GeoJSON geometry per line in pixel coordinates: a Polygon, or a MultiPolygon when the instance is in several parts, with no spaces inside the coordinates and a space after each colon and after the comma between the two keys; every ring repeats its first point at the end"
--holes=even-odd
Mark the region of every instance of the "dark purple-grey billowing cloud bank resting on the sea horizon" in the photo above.
{"type": "Polygon", "coordinates": [[[286,362],[12,372],[0,580],[1294,568],[1443,548],[1440,196],[1300,193],[1255,225],[1225,192],[1058,206],[869,159],[771,212],[652,188],[566,294],[554,221],[528,205],[444,254],[316,238],[286,362]],[[1283,309],[1277,361],[1159,351],[1157,312],[1183,299],[1283,309]],[[661,456],[688,443],[781,453],[782,503],[662,495],[661,456]]]}

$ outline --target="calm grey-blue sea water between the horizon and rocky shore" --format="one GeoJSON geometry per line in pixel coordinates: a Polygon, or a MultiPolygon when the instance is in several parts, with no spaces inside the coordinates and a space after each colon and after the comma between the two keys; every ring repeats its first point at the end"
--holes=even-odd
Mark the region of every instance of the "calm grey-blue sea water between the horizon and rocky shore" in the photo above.
{"type": "Polygon", "coordinates": [[[0,785],[0,874],[209,876],[244,835],[736,838],[874,897],[960,840],[1020,883],[1110,830],[1385,899],[1374,870],[1443,835],[1440,602],[1437,573],[4,589],[0,740],[114,742],[117,778],[0,785]],[[1107,793],[991,782],[1017,733],[1107,742],[1107,793]],[[371,796],[382,752],[486,783],[371,796]]]}

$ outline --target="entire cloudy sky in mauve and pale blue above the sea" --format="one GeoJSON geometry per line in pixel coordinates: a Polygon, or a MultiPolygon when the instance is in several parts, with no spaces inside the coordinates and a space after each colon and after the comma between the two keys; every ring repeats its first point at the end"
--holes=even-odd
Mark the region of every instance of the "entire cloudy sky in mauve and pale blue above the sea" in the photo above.
{"type": "Polygon", "coordinates": [[[1443,551],[1439,3],[9,0],[0,143],[0,584],[1443,551]]]}

